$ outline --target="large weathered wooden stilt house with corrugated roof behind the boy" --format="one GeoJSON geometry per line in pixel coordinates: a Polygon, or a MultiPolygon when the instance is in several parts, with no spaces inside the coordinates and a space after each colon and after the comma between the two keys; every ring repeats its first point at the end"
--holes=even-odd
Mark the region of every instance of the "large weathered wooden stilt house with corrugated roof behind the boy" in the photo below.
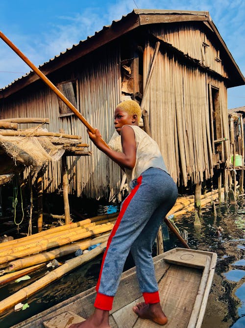
{"type": "MultiPolygon", "coordinates": [[[[244,85],[245,78],[208,12],[133,10],[40,69],[106,142],[116,105],[126,96],[137,100],[144,128],[178,185],[199,183],[215,167],[229,166],[227,88],[244,85]]],[[[0,90],[0,119],[28,116],[49,118],[51,131],[89,140],[82,123],[34,72],[0,90]]],[[[108,197],[118,192],[121,171],[91,149],[92,156],[69,157],[70,193],[108,197]]],[[[48,192],[60,186],[54,166],[45,175],[48,192]]]]}

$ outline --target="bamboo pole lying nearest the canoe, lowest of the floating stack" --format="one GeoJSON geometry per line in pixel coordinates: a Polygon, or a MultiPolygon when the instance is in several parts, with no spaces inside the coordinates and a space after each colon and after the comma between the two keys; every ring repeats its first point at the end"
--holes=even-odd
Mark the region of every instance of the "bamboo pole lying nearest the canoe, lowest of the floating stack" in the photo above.
{"type": "Polygon", "coordinates": [[[0,313],[4,312],[7,309],[12,308],[22,300],[35,294],[37,291],[49,285],[51,282],[62,277],[65,273],[70,272],[74,268],[77,268],[82,264],[92,260],[99,254],[101,254],[105,247],[106,247],[106,242],[102,243],[101,245],[91,250],[87,254],[83,254],[81,256],[68,260],[65,264],[63,264],[59,268],[54,269],[53,271],[49,272],[44,277],[36,280],[34,283],[30,284],[29,286],[26,286],[22,288],[20,291],[9,296],[8,298],[3,299],[2,301],[0,301],[0,313]]]}

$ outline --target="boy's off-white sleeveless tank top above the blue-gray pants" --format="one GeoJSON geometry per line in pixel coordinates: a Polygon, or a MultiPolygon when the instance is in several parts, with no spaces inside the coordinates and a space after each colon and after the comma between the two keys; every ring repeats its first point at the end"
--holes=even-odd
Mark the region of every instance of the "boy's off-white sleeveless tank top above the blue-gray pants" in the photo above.
{"type": "MultiPolygon", "coordinates": [[[[136,163],[132,170],[125,168],[127,183],[129,184],[132,180],[139,178],[139,176],[150,167],[159,168],[168,173],[157,143],[139,126],[128,126],[134,130],[135,134],[136,163]]],[[[121,136],[118,135],[117,132],[116,134],[113,134],[109,146],[111,149],[122,152],[121,136]]]]}

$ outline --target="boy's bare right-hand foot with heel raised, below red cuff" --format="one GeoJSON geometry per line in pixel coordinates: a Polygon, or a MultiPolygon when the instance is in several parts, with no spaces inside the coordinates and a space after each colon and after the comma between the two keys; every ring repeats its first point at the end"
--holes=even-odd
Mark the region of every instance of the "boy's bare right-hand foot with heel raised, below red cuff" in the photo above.
{"type": "Polygon", "coordinates": [[[159,325],[166,325],[168,318],[163,313],[160,303],[146,304],[145,302],[137,303],[133,306],[133,311],[142,319],[150,319],[159,325]]]}

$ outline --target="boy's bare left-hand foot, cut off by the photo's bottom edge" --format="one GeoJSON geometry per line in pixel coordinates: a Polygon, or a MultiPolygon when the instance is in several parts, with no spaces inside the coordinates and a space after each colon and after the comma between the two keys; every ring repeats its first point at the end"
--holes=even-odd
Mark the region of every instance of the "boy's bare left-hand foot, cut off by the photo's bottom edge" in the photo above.
{"type": "Polygon", "coordinates": [[[73,324],[69,328],[111,328],[109,326],[109,311],[96,308],[87,320],[73,324]]]}

